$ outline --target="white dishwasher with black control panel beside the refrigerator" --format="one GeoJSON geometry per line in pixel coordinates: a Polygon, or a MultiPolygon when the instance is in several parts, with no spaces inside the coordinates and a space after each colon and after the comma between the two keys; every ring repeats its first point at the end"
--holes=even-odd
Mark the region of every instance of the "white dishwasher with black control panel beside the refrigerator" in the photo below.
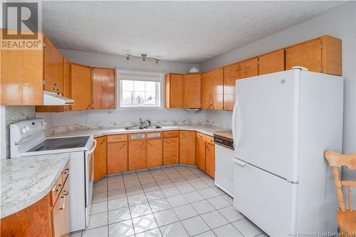
{"type": "Polygon", "coordinates": [[[214,132],[215,185],[234,197],[234,139],[231,131],[214,132]]]}

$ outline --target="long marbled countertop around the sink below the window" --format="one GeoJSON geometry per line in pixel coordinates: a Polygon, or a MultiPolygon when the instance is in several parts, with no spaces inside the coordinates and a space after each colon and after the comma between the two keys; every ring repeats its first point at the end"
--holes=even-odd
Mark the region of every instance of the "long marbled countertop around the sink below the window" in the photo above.
{"type": "Polygon", "coordinates": [[[147,130],[125,130],[125,128],[97,128],[90,130],[71,130],[68,132],[57,132],[51,137],[66,137],[66,136],[80,136],[80,135],[93,135],[93,137],[101,137],[105,135],[116,135],[116,134],[126,134],[135,132],[161,132],[168,130],[188,130],[201,132],[205,135],[214,136],[214,132],[227,130],[224,127],[215,127],[211,125],[170,125],[161,126],[158,129],[147,129],[147,130]]]}

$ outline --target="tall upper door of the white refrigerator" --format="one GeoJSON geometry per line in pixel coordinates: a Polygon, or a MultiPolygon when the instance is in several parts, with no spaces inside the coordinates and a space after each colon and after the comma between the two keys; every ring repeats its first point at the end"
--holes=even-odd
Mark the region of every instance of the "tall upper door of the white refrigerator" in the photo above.
{"type": "Polygon", "coordinates": [[[298,181],[300,70],[236,83],[235,157],[298,181]]]}

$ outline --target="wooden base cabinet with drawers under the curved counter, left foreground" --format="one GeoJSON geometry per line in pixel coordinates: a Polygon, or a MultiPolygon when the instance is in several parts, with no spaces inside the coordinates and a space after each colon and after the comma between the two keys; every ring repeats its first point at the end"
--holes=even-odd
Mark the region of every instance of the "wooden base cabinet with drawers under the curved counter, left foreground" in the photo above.
{"type": "MultiPolygon", "coordinates": [[[[68,167],[68,164],[66,167],[68,167]]],[[[46,196],[15,214],[1,218],[0,235],[24,237],[69,236],[69,181],[70,175],[65,168],[53,189],[46,196]],[[64,174],[64,172],[67,174],[64,174]]]]}

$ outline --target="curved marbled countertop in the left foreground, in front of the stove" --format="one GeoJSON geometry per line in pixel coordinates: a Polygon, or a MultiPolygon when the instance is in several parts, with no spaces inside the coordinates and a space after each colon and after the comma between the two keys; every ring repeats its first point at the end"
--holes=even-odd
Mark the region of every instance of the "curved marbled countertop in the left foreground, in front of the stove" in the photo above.
{"type": "Polygon", "coordinates": [[[69,153],[61,153],[1,160],[0,218],[21,211],[46,196],[69,157],[69,153]]]}

